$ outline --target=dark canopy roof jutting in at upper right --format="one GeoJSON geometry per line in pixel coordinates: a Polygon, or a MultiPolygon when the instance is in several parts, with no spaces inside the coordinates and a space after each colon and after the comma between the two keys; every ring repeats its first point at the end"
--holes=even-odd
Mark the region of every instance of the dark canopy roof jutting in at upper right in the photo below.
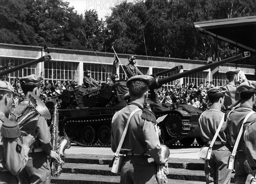
{"type": "Polygon", "coordinates": [[[195,22],[194,26],[215,39],[256,52],[256,16],[195,22]]]}

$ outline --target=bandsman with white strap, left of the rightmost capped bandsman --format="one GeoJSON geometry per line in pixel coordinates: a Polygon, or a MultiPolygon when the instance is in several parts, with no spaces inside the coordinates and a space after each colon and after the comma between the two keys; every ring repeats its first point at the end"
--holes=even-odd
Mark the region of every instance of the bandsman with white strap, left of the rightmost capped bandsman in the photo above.
{"type": "MultiPolygon", "coordinates": [[[[221,107],[224,103],[224,94],[226,88],[216,86],[207,91],[209,101],[212,106],[209,110],[204,111],[199,119],[201,137],[208,146],[220,125],[224,113],[221,107]]],[[[231,170],[227,169],[227,161],[231,155],[230,146],[227,142],[227,124],[223,123],[218,137],[212,146],[212,154],[209,160],[205,160],[204,172],[206,183],[229,184],[231,170]]]]}

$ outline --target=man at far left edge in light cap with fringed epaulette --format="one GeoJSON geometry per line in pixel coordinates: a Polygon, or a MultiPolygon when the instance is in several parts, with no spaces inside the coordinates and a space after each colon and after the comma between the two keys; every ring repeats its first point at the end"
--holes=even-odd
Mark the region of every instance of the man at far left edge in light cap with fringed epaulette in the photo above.
{"type": "Polygon", "coordinates": [[[30,134],[20,142],[17,122],[8,118],[13,104],[14,88],[9,82],[0,81],[0,184],[18,184],[18,173],[29,159],[29,147],[35,142],[30,134]]]}

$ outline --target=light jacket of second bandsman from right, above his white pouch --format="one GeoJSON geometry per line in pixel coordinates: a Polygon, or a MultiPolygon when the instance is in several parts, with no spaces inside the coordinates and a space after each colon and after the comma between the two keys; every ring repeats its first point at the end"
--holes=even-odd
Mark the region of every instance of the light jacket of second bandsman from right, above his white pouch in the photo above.
{"type": "MultiPolygon", "coordinates": [[[[212,106],[209,110],[204,111],[199,121],[200,133],[203,141],[212,141],[223,115],[224,113],[221,112],[218,106],[212,106]]],[[[216,141],[227,143],[226,128],[227,124],[224,122],[216,141]]]]}

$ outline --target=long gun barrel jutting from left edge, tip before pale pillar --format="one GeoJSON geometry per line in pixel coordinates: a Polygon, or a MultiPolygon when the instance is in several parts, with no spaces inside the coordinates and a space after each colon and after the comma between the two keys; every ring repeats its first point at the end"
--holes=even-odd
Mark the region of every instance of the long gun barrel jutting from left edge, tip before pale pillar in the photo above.
{"type": "Polygon", "coordinates": [[[22,68],[37,64],[39,62],[48,61],[50,59],[52,59],[52,57],[50,55],[46,55],[46,56],[40,57],[39,59],[35,59],[35,60],[32,60],[32,61],[26,62],[22,65],[15,66],[13,68],[10,68],[10,69],[4,70],[4,71],[0,71],[0,77],[3,77],[3,76],[5,76],[7,74],[10,74],[12,72],[18,71],[22,68]]]}

